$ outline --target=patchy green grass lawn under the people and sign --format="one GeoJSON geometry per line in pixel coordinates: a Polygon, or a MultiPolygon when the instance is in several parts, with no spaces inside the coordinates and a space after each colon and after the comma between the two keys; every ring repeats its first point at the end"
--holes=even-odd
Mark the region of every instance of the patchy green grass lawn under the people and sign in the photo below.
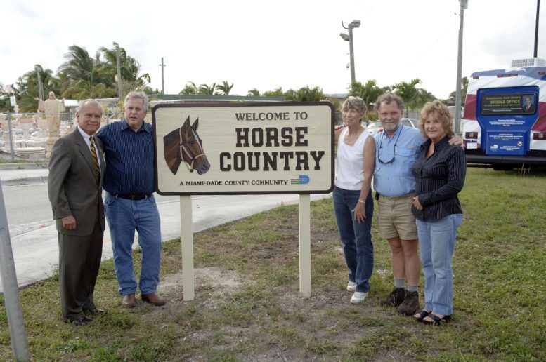
{"type": "MultiPolygon", "coordinates": [[[[297,206],[282,206],[195,234],[193,302],[183,302],[179,240],[164,243],[164,307],[138,300],[135,309],[123,309],[112,260],[101,265],[95,292],[107,313],[88,326],[61,321],[55,277],[22,289],[30,355],[36,361],[545,361],[545,185],[545,173],[469,168],[453,258],[455,311],[445,326],[424,326],[379,306],[393,281],[375,220],[372,289],[363,304],[349,304],[326,199],[311,206],[310,298],[299,296],[297,206]]],[[[1,297],[0,359],[13,359],[1,297]]]]}

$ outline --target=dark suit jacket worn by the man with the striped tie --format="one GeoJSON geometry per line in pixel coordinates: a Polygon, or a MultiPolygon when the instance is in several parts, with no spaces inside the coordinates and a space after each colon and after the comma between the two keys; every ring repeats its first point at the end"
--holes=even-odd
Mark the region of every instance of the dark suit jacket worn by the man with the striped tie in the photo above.
{"type": "Polygon", "coordinates": [[[103,143],[95,138],[100,161],[100,180],[96,175],[91,152],[79,130],[59,138],[51,149],[49,160],[48,195],[62,234],[86,236],[93,232],[98,218],[104,231],[103,178],[105,163],[103,143]],[[63,228],[62,218],[76,219],[76,229],[63,228]]]}

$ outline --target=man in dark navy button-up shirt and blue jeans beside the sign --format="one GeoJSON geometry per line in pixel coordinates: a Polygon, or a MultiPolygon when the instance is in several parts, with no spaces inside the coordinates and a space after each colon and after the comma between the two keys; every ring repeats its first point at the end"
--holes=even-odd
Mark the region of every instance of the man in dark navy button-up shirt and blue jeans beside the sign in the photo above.
{"type": "Polygon", "coordinates": [[[114,264],[124,307],[136,306],[136,277],[132,246],[135,230],[142,249],[141,298],[154,305],[165,300],[157,294],[160,281],[161,229],[154,192],[154,142],[152,125],[145,123],[148,96],[129,93],[125,119],[100,129],[108,167],[104,180],[105,214],[112,237],[114,264]]]}

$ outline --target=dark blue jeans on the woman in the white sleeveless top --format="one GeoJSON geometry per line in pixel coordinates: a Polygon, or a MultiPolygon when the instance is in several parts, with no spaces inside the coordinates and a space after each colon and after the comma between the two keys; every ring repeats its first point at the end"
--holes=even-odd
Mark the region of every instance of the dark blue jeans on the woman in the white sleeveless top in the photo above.
{"type": "Polygon", "coordinates": [[[354,220],[354,208],[358,204],[360,190],[334,188],[334,213],[336,216],[339,239],[343,243],[343,254],[349,268],[349,281],[356,283],[357,292],[370,290],[370,277],[373,272],[372,244],[372,192],[368,193],[365,203],[366,220],[359,224],[354,220]]]}

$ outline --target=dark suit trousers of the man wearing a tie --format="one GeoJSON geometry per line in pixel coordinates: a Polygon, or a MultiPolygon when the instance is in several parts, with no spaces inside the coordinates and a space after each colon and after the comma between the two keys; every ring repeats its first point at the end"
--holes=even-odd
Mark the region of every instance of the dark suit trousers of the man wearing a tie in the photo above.
{"type": "Polygon", "coordinates": [[[65,321],[80,319],[84,311],[95,308],[93,290],[103,253],[103,234],[98,217],[91,235],[58,234],[60,309],[65,321]]]}

